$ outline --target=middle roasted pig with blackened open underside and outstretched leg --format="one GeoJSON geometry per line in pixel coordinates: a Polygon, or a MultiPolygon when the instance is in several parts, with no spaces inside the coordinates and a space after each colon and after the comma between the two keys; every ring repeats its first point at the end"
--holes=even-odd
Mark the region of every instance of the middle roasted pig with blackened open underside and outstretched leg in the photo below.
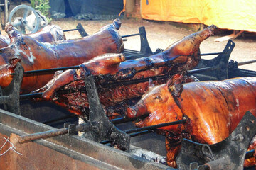
{"type": "MultiPolygon", "coordinates": [[[[80,69],[67,70],[49,81],[46,86],[38,91],[43,92],[43,98],[53,100],[55,103],[68,108],[71,112],[82,115],[88,107],[87,95],[79,89],[85,86],[82,77],[86,74],[97,76],[97,84],[102,105],[115,106],[122,101],[140,97],[149,88],[149,81],[140,83],[122,84],[122,81],[135,81],[149,79],[150,77],[165,74],[185,73],[198,64],[201,58],[200,43],[213,34],[215,26],[188,35],[174,45],[169,46],[164,52],[137,60],[125,60],[123,55],[104,55],[95,57],[89,62],[80,65],[80,69]],[[104,87],[103,84],[112,82],[118,86],[104,87]],[[60,94],[58,89],[75,91],[73,94],[60,94]]],[[[154,84],[163,84],[165,80],[154,81],[154,84]]]]}

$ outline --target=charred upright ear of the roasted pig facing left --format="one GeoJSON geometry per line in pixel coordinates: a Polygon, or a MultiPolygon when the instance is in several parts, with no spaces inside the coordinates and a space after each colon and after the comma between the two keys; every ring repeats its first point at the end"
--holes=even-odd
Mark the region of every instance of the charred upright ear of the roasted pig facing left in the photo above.
{"type": "Polygon", "coordinates": [[[168,89],[173,96],[181,96],[181,92],[183,91],[183,75],[175,74],[169,81],[167,82],[168,89]]]}

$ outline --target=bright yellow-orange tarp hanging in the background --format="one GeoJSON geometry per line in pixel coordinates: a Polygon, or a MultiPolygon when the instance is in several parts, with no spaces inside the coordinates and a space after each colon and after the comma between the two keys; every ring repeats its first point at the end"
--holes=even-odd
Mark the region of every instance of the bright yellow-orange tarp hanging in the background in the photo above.
{"type": "Polygon", "coordinates": [[[141,0],[142,18],[256,32],[256,0],[141,0]]]}

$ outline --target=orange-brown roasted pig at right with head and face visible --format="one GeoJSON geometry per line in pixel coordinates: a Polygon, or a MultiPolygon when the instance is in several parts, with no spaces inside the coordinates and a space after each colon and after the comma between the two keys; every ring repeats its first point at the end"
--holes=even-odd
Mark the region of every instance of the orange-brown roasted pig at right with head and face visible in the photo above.
{"type": "Polygon", "coordinates": [[[181,84],[176,75],[167,84],[155,86],[135,105],[127,108],[129,118],[149,114],[139,127],[186,119],[183,125],[159,128],[166,135],[167,161],[176,166],[179,142],[191,140],[215,144],[235,130],[246,111],[256,116],[256,78],[201,81],[181,84]],[[183,89],[183,91],[182,91],[183,89]],[[180,95],[176,91],[180,91],[180,95]]]}

